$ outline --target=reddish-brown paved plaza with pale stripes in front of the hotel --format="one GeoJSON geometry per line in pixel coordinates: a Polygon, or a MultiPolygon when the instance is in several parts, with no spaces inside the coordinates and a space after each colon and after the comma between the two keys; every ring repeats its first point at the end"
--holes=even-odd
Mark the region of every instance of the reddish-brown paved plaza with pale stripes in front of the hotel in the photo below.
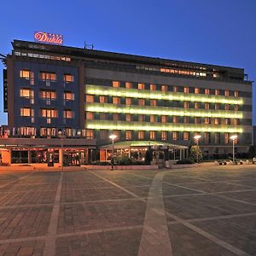
{"type": "Polygon", "coordinates": [[[256,167],[1,171],[0,255],[256,255],[256,167]]]}

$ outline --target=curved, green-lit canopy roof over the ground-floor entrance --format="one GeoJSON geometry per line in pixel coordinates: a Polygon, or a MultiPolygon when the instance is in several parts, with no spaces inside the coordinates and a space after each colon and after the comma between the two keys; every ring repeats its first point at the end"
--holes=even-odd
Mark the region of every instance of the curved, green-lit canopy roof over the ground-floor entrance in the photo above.
{"type": "MultiPolygon", "coordinates": [[[[133,148],[133,147],[160,147],[170,149],[188,149],[186,146],[176,145],[171,143],[163,143],[156,141],[125,141],[119,143],[113,143],[114,148],[133,148]]],[[[112,144],[102,146],[101,148],[112,148],[112,144]]]]}

